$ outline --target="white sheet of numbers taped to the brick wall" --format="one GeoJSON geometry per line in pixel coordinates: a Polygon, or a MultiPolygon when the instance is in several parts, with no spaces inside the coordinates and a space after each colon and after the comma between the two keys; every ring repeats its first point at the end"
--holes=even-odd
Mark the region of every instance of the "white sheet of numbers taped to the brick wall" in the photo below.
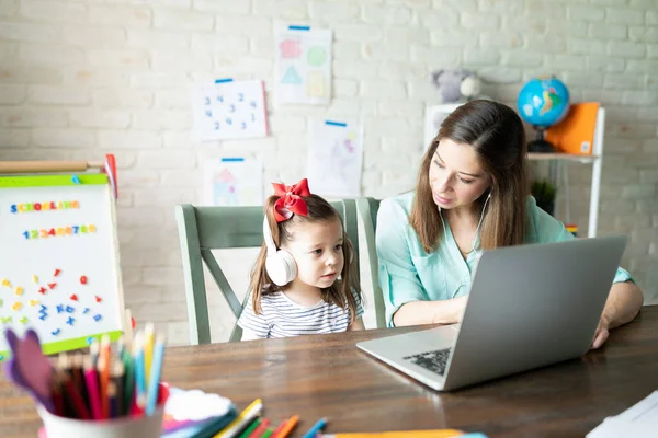
{"type": "Polygon", "coordinates": [[[193,92],[194,130],[200,140],[268,136],[263,81],[218,79],[193,92]]]}

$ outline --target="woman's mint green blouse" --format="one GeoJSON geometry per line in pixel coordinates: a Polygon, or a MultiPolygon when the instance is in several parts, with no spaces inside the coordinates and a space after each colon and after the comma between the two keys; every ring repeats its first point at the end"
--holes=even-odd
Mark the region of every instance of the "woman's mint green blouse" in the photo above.
{"type": "MultiPolygon", "coordinates": [[[[447,300],[466,295],[472,272],[479,258],[475,250],[464,260],[445,221],[445,237],[439,247],[427,254],[409,224],[413,192],[382,200],[377,214],[376,244],[379,257],[379,286],[386,303],[386,321],[393,326],[394,313],[407,302],[447,300]]],[[[526,243],[548,243],[576,239],[564,224],[527,198],[526,243]]],[[[619,268],[614,283],[632,280],[619,268]]]]}

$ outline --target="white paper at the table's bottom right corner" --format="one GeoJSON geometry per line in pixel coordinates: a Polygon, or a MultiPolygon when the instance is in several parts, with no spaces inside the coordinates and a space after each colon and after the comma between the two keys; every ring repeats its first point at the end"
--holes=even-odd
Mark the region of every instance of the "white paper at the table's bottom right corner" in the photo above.
{"type": "Polygon", "coordinates": [[[658,428],[658,391],[614,417],[608,417],[587,438],[653,437],[658,428]]]}

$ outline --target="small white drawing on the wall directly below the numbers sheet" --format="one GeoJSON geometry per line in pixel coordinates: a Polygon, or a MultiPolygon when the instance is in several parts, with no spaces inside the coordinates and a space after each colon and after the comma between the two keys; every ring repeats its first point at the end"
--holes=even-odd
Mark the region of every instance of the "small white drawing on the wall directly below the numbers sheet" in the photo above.
{"type": "Polygon", "coordinates": [[[224,157],[203,164],[204,204],[262,206],[263,163],[259,159],[224,157]]]}

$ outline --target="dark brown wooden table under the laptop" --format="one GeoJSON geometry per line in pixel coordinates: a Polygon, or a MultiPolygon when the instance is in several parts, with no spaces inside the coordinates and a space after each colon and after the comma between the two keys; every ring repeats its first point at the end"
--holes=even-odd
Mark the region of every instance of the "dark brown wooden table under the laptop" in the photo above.
{"type": "MultiPolygon", "coordinates": [[[[374,330],[167,350],[164,379],[219,393],[239,408],[263,400],[272,422],[299,414],[303,433],[451,427],[489,437],[582,437],[658,389],[658,306],[580,359],[439,393],[356,349],[354,343],[427,327],[374,330]]],[[[549,334],[547,334],[549,336],[549,334]]],[[[0,379],[0,436],[34,437],[30,399],[0,379]]]]}

